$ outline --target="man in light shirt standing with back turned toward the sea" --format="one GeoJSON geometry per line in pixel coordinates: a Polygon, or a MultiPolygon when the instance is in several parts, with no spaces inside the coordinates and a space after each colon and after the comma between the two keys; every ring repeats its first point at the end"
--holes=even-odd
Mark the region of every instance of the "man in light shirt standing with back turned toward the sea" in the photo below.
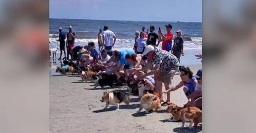
{"type": "Polygon", "coordinates": [[[108,26],[104,26],[103,28],[103,45],[104,45],[104,49],[106,50],[106,53],[108,53],[108,55],[112,55],[112,47],[115,45],[116,43],[116,35],[109,30],[108,26]],[[114,38],[114,42],[113,42],[113,38],[114,38]]]}

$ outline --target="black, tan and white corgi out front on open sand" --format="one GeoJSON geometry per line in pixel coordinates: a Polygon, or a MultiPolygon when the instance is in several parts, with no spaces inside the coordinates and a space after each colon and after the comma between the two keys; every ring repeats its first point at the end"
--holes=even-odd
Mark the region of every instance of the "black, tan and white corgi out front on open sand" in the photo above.
{"type": "Polygon", "coordinates": [[[109,104],[111,104],[116,105],[116,110],[119,110],[119,104],[121,102],[129,105],[130,96],[123,91],[103,92],[103,96],[100,101],[106,102],[104,109],[108,108],[109,104]]]}

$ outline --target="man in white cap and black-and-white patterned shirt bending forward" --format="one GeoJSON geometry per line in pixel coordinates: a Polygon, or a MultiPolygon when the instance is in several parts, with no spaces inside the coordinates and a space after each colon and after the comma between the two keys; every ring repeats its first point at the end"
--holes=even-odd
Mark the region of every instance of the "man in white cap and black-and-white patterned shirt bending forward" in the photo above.
{"type": "MultiPolygon", "coordinates": [[[[179,70],[180,63],[178,58],[175,57],[170,52],[161,50],[159,48],[154,48],[154,46],[147,45],[144,52],[142,53],[143,59],[152,62],[155,67],[152,71],[140,75],[138,78],[144,78],[147,75],[154,74],[156,90],[162,100],[162,83],[164,83],[165,90],[170,88],[172,84],[171,79],[173,79],[176,71],[179,70]]],[[[170,93],[167,93],[167,100],[162,103],[162,105],[170,104],[170,93]]]]}

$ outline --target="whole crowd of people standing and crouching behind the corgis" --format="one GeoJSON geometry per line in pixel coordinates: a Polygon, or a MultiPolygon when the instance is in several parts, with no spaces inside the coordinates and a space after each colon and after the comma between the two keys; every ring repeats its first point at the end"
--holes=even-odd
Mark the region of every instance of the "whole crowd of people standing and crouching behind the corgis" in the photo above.
{"type": "Polygon", "coordinates": [[[116,35],[109,30],[108,26],[104,26],[98,33],[98,49],[94,42],[87,45],[75,45],[76,34],[69,26],[69,33],[62,32],[59,28],[60,42],[60,58],[62,51],[65,59],[75,60],[78,62],[78,68],[83,71],[89,66],[96,70],[102,70],[106,74],[116,74],[120,78],[118,71],[123,70],[125,80],[130,76],[135,76],[137,80],[143,80],[148,76],[154,75],[155,91],[159,94],[162,105],[170,104],[170,92],[183,87],[188,102],[186,105],[195,106],[195,100],[201,97],[202,71],[198,70],[196,76],[188,68],[180,65],[180,57],[184,56],[182,31],[176,31],[174,37],[172,33],[173,26],[165,25],[166,33],[163,34],[158,29],[155,33],[155,26],[150,26],[150,31],[146,32],[145,27],[142,31],[135,32],[135,40],[133,50],[114,50],[116,43],[116,35]],[[65,53],[65,39],[67,47],[67,57],[65,53]],[[158,40],[158,42],[157,42],[158,40]],[[172,41],[174,40],[174,41],[172,41]],[[162,47],[158,45],[162,42],[162,47]],[[172,44],[174,42],[174,44],[172,44]],[[178,72],[181,82],[178,85],[172,85],[172,79],[178,72]],[[162,97],[162,86],[165,87],[167,99],[164,101],[162,97]],[[172,86],[171,86],[172,85],[172,86]]]}

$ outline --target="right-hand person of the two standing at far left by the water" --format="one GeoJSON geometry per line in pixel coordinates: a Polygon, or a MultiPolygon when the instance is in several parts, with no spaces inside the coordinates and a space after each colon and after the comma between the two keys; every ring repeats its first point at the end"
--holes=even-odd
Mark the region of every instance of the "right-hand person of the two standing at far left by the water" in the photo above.
{"type": "MultiPolygon", "coordinates": [[[[69,55],[72,56],[71,50],[75,46],[76,33],[72,31],[72,26],[69,26],[69,33],[67,34],[67,59],[69,59],[69,55]]],[[[72,57],[71,57],[72,58],[72,57]]]]}

